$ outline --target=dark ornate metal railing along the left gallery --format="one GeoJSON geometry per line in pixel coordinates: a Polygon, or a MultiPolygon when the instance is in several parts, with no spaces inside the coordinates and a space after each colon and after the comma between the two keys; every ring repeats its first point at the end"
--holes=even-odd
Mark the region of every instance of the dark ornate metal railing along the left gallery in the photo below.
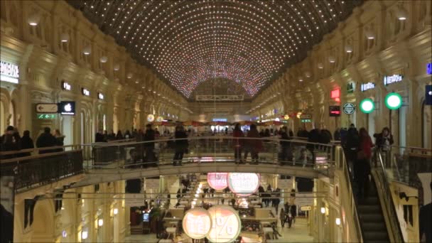
{"type": "Polygon", "coordinates": [[[45,185],[82,173],[80,146],[53,146],[0,153],[1,176],[14,176],[15,189],[45,185]]]}

